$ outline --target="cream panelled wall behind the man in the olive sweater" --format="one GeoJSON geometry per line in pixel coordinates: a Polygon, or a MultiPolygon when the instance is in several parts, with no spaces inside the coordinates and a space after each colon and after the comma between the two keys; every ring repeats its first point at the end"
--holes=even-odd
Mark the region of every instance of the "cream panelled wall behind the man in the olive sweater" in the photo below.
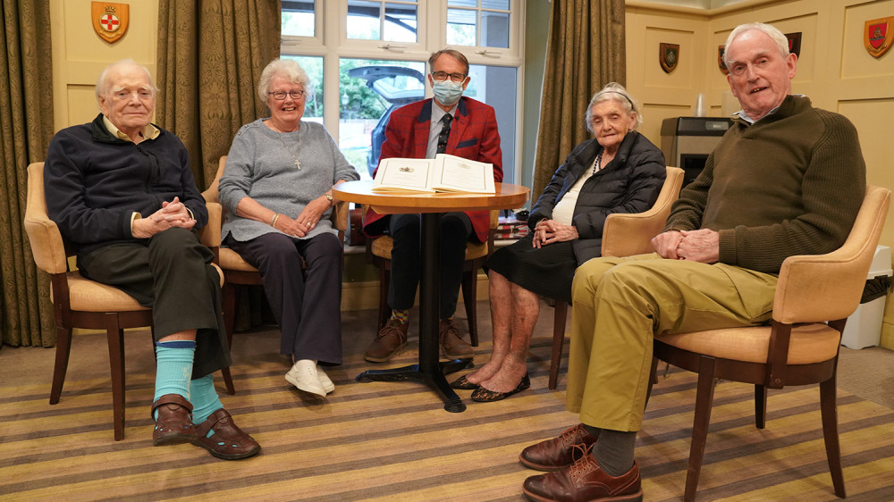
{"type": "MultiPolygon", "coordinates": [[[[724,100],[736,105],[717,66],[717,47],[743,22],[769,22],[783,33],[802,32],[796,93],[854,122],[866,161],[867,182],[894,188],[894,52],[881,59],[863,45],[864,21],[894,15],[894,0],[749,0],[716,9],[696,9],[637,0],[627,2],[628,88],[644,104],[644,134],[661,141],[661,122],[691,115],[704,93],[709,115],[721,115],[724,100]],[[679,44],[679,64],[670,74],[658,63],[661,42],[679,44]]],[[[892,27],[894,28],[894,27],[892,27]]],[[[732,109],[735,112],[738,107],[732,109]]],[[[881,244],[894,247],[889,213],[881,244]]],[[[889,301],[882,345],[894,348],[894,302],[889,301]]]]}

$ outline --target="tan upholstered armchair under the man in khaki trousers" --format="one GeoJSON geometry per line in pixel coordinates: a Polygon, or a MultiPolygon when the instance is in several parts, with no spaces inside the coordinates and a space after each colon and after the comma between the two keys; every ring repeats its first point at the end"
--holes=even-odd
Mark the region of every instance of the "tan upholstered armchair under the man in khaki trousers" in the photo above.
{"type": "Polygon", "coordinates": [[[835,404],[839,343],[848,316],[856,311],[863,294],[889,205],[889,189],[867,187],[842,247],[827,255],[789,256],[782,263],[772,325],[655,338],[653,375],[659,360],[698,373],[684,500],[696,498],[716,379],[755,385],[758,429],[766,422],[767,389],[819,383],[832,485],[835,495],[845,497],[835,404]]]}

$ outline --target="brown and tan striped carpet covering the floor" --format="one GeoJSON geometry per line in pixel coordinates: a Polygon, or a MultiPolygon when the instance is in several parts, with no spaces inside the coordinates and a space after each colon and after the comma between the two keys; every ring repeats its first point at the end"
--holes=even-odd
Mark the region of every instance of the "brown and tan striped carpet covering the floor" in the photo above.
{"type": "MultiPolygon", "coordinates": [[[[276,346],[275,332],[252,336],[253,344],[276,346]]],[[[416,347],[411,340],[395,365],[412,363],[416,347]]],[[[489,349],[477,348],[479,362],[489,349]]],[[[53,352],[45,351],[47,365],[53,352]]],[[[48,380],[0,381],[0,498],[519,500],[533,473],[519,464],[519,451],[576,422],[564,411],[564,377],[558,391],[546,389],[548,339],[534,340],[531,389],[493,404],[471,403],[469,391],[460,391],[468,405],[461,414],[445,412],[416,383],[355,383],[369,368],[356,352],[329,373],[337,389],[327,399],[291,389],[276,356],[237,360],[237,394],[223,402],[264,448],[237,462],[191,445],[152,447],[151,371],[128,367],[120,442],[112,435],[108,379],[79,380],[75,356],[56,406],[47,404],[48,380]]],[[[646,500],[682,496],[695,384],[693,374],[671,372],[655,386],[637,439],[646,500]]],[[[772,391],[763,431],[754,427],[752,396],[749,386],[718,384],[698,499],[836,499],[819,390],[772,391]]],[[[894,410],[839,391],[839,427],[848,498],[894,499],[894,410]]]]}

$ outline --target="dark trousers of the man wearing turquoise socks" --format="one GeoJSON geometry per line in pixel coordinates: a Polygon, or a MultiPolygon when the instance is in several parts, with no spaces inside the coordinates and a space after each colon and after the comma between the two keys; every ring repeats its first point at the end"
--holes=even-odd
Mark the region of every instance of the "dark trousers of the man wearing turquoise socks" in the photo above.
{"type": "Polygon", "coordinates": [[[198,330],[195,379],[231,363],[213,258],[196,232],[173,228],[146,240],[100,247],[79,256],[78,268],[84,277],[122,289],[139,305],[152,307],[156,341],[198,330]]]}

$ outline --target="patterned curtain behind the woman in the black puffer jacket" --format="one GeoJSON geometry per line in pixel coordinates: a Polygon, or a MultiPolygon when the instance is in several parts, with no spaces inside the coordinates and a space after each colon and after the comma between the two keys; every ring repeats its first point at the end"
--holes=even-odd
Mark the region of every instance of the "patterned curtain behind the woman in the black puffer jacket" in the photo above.
{"type": "Polygon", "coordinates": [[[552,0],[533,198],[578,143],[591,138],[584,114],[608,82],[624,84],[624,0],[552,0]]]}

